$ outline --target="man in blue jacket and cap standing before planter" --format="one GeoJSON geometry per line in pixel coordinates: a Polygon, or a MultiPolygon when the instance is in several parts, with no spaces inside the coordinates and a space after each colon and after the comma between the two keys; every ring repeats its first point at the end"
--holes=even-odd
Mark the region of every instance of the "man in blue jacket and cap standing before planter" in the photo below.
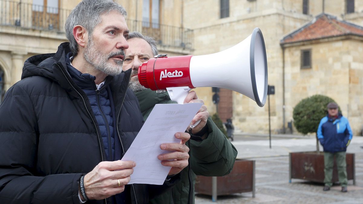
{"type": "Polygon", "coordinates": [[[327,105],[328,115],[321,119],[318,127],[318,139],[324,148],[324,191],[329,191],[333,185],[334,156],[337,160],[338,178],[342,192],[347,192],[346,150],[352,139],[352,130],[348,119],[338,112],[337,103],[327,105]]]}

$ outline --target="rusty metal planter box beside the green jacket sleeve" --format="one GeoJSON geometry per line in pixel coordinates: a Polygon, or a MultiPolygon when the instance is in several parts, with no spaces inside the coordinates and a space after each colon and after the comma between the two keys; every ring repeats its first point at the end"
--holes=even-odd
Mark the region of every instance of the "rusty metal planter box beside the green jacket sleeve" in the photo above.
{"type": "MultiPolygon", "coordinates": [[[[195,191],[212,195],[212,176],[197,176],[195,191]]],[[[255,161],[236,159],[231,173],[217,177],[217,195],[251,192],[255,195],[255,161]]]]}

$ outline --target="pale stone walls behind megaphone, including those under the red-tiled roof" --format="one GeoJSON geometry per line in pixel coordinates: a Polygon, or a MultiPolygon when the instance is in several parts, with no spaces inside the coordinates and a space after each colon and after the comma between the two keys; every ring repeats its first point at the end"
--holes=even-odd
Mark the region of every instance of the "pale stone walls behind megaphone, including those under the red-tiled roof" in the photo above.
{"type": "MultiPolygon", "coordinates": [[[[363,42],[360,36],[330,36],[329,39],[321,39],[321,43],[309,41],[310,44],[296,46],[280,44],[285,36],[315,21],[321,13],[330,13],[340,20],[363,25],[362,1],[229,0],[229,16],[223,18],[220,16],[220,2],[184,1],[184,8],[188,8],[188,14],[184,15],[185,26],[193,29],[195,36],[193,54],[210,54],[228,49],[249,36],[255,27],[259,27],[266,45],[268,83],[275,86],[275,94],[270,95],[273,133],[290,132],[288,123],[293,119],[294,106],[301,99],[324,94],[342,107],[342,113],[350,120],[354,135],[362,134],[363,109],[358,102],[363,94],[362,75],[359,75],[363,65],[358,57],[361,56],[359,50],[362,50],[363,42]],[[198,12],[200,7],[205,8],[204,12],[198,12]],[[300,69],[301,49],[305,48],[313,50],[313,68],[310,70],[300,69]],[[330,65],[334,66],[333,70],[329,69],[330,65]],[[340,79],[337,82],[339,86],[331,86],[331,81],[337,79],[340,79]]],[[[221,56],[219,60],[224,58],[221,56]]],[[[221,68],[221,72],[224,70],[221,68]]],[[[201,93],[209,91],[209,95],[204,96],[199,92],[198,95],[210,101],[213,93],[210,89],[203,89],[201,93]]],[[[233,92],[231,95],[232,103],[228,106],[232,106],[235,127],[244,132],[268,133],[268,102],[260,108],[242,94],[233,92]]]]}

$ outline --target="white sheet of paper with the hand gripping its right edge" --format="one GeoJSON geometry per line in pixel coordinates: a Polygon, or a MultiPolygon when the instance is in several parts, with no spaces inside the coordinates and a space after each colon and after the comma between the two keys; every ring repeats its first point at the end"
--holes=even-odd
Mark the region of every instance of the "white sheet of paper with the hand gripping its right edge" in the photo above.
{"type": "Polygon", "coordinates": [[[202,105],[203,103],[155,105],[121,159],[136,162],[129,184],[162,185],[168,174],[177,174],[188,165],[189,148],[185,146],[185,142],[189,139],[189,134],[184,131],[202,105]]]}

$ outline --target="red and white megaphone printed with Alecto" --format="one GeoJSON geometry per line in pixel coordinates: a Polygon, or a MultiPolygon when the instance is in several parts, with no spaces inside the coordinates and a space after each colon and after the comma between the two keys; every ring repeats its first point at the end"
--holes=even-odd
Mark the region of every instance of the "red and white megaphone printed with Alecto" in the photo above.
{"type": "Polygon", "coordinates": [[[138,78],[146,88],[167,90],[178,103],[195,87],[220,87],[246,95],[263,107],[268,84],[264,37],[255,28],[242,42],[214,54],[160,54],[140,65],[138,78]]]}

